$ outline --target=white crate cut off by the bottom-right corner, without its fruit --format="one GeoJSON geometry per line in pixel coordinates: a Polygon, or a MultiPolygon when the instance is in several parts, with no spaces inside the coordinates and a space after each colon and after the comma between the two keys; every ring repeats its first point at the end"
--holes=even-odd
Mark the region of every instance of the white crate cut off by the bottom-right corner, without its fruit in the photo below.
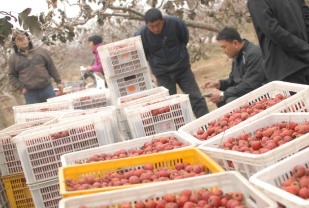
{"type": "Polygon", "coordinates": [[[309,148],[254,174],[250,181],[271,199],[287,208],[309,208],[309,200],[280,189],[281,183],[292,176],[295,165],[309,167],[309,148]]]}

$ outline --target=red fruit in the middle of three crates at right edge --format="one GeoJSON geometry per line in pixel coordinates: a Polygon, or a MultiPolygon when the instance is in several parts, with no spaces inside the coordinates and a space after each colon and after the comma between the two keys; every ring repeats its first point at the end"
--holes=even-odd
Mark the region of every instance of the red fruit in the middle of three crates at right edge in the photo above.
{"type": "Polygon", "coordinates": [[[244,133],[237,138],[230,137],[219,148],[263,154],[307,133],[309,133],[309,121],[303,124],[282,121],[256,129],[253,135],[244,133]]]}

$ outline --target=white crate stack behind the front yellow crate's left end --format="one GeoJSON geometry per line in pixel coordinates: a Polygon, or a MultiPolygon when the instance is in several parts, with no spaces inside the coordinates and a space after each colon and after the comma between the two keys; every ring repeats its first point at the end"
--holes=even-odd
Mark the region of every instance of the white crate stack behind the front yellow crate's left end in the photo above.
{"type": "Polygon", "coordinates": [[[118,142],[112,125],[117,124],[103,114],[36,127],[12,138],[25,174],[22,182],[29,186],[34,204],[23,208],[58,208],[61,155],[118,142]]]}

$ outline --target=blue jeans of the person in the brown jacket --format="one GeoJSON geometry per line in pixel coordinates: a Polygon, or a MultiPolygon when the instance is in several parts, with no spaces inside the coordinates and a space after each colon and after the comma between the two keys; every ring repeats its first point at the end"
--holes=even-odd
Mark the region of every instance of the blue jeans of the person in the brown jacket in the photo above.
{"type": "Polygon", "coordinates": [[[26,104],[43,103],[48,98],[56,97],[56,93],[51,85],[48,85],[43,89],[36,89],[28,91],[24,94],[26,104]]]}

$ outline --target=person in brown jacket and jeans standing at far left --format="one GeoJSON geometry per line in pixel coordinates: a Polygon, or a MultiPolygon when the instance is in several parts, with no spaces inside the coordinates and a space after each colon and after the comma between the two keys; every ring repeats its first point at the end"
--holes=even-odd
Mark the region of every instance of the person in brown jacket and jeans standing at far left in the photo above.
{"type": "Polygon", "coordinates": [[[29,34],[24,31],[16,32],[12,43],[15,53],[8,60],[8,76],[11,84],[24,94],[26,104],[46,102],[56,96],[51,78],[62,91],[59,73],[45,49],[33,49],[29,34]]]}

